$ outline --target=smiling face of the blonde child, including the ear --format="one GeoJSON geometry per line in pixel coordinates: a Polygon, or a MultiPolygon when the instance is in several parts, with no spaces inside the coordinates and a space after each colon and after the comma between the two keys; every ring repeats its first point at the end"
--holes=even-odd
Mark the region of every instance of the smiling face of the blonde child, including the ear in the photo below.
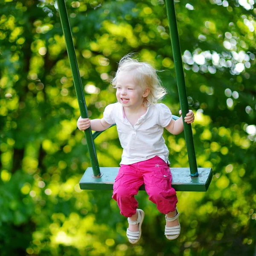
{"type": "Polygon", "coordinates": [[[116,79],[116,98],[125,108],[140,108],[143,106],[145,97],[148,96],[149,89],[143,90],[134,81],[131,72],[121,71],[116,79]]]}

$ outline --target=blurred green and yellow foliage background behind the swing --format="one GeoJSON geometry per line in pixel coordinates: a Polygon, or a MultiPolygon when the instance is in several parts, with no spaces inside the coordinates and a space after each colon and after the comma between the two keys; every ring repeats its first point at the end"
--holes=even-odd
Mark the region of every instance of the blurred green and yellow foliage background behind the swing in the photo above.
{"type": "MultiPolygon", "coordinates": [[[[163,0],[67,0],[90,118],[116,101],[110,80],[130,52],[159,72],[180,109],[163,0]]],[[[55,0],[0,3],[1,256],[255,256],[256,6],[254,0],[175,2],[199,167],[207,192],[178,192],[181,234],[145,192],[143,235],[130,244],[111,191],[81,191],[90,166],[55,0]]],[[[164,133],[171,166],[187,167],[183,134],[164,133]]],[[[111,128],[95,145],[100,166],[119,166],[111,128]]]]}

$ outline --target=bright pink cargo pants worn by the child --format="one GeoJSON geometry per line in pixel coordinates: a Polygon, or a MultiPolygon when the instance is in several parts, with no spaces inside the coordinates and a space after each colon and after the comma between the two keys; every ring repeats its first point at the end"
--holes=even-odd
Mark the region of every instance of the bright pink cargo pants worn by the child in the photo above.
{"type": "Polygon", "coordinates": [[[153,157],[131,165],[121,165],[112,198],[116,200],[122,215],[128,218],[136,213],[138,202],[134,195],[144,183],[149,200],[157,205],[160,212],[167,214],[175,211],[178,199],[172,188],[169,165],[160,157],[153,157]]]}

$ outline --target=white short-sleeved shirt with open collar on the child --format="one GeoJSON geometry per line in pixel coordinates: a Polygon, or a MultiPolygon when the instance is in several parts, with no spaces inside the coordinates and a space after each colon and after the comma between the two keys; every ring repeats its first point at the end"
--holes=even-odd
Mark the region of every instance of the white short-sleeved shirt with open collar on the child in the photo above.
{"type": "Polygon", "coordinates": [[[150,105],[134,126],[125,117],[119,102],[108,105],[103,116],[109,124],[116,124],[123,148],[120,164],[137,163],[155,156],[169,163],[169,150],[162,136],[163,128],[172,120],[172,113],[166,105],[162,103],[150,105]]]}

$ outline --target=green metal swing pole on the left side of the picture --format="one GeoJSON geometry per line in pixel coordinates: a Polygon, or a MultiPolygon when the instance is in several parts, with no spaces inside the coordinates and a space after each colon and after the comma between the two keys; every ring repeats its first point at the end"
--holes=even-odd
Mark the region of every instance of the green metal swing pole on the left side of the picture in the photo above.
{"type": "MultiPolygon", "coordinates": [[[[82,118],[88,118],[88,112],[87,112],[87,107],[84,99],[84,92],[83,92],[83,87],[82,87],[82,82],[81,82],[81,77],[79,73],[79,68],[76,60],[76,52],[75,52],[75,47],[73,44],[73,39],[72,39],[72,34],[71,34],[71,29],[70,29],[70,23],[68,20],[67,16],[67,9],[65,5],[64,0],[57,0],[58,3],[58,9],[59,9],[59,14],[61,18],[61,25],[64,33],[64,38],[66,41],[67,45],[67,54],[70,60],[70,66],[72,70],[72,75],[74,79],[74,84],[76,88],[76,95],[78,99],[78,104],[79,104],[79,109],[81,113],[82,118]]],[[[96,155],[96,150],[93,142],[93,136],[92,136],[92,130],[91,128],[88,128],[87,130],[84,131],[87,146],[88,146],[88,151],[89,151],[89,156],[90,156],[90,161],[92,164],[93,168],[93,175],[94,177],[101,177],[102,174],[100,173],[99,170],[99,163],[98,163],[98,158],[96,155]]]]}

